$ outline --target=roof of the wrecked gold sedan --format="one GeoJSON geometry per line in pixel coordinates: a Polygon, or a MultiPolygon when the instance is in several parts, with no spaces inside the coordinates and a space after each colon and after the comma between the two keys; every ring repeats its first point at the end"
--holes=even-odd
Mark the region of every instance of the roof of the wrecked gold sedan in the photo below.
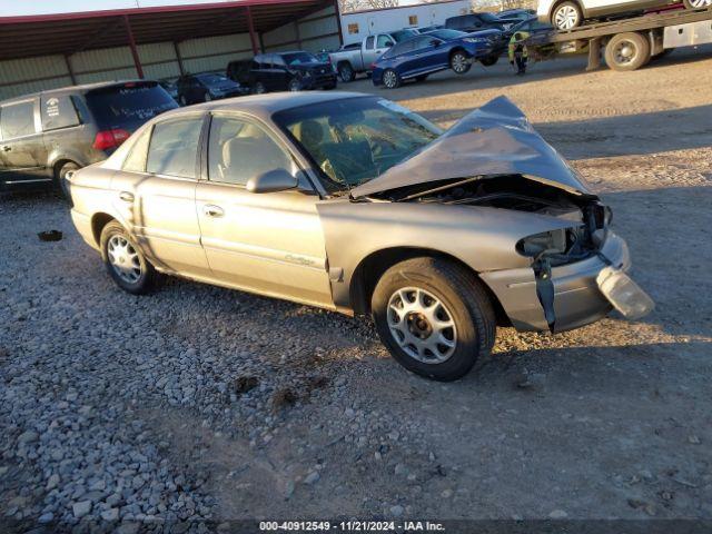
{"type": "MultiPolygon", "coordinates": [[[[346,91],[305,91],[305,92],[270,92],[267,95],[250,95],[247,97],[227,98],[225,100],[214,100],[210,102],[198,103],[178,108],[161,113],[160,119],[166,117],[175,117],[182,113],[189,113],[196,110],[207,111],[246,111],[257,117],[267,118],[278,111],[286,109],[300,108],[301,106],[312,106],[334,100],[344,100],[348,98],[373,97],[363,92],[346,91]]],[[[159,120],[160,120],[159,119],[159,120]]]]}

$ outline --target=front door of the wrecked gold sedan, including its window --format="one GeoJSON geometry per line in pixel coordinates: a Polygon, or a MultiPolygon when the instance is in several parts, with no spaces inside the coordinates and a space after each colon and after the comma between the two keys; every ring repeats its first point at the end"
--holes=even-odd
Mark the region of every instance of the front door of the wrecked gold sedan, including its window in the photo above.
{"type": "Polygon", "coordinates": [[[264,127],[216,115],[208,181],[198,184],[201,243],[216,281],[264,295],[333,307],[317,195],[255,194],[245,186],[275,169],[298,169],[264,127]]]}

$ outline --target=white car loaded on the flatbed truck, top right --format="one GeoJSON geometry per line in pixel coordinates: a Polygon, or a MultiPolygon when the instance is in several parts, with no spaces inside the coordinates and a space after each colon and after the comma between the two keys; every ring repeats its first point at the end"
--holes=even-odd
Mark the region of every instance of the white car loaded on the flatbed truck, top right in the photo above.
{"type": "MultiPolygon", "coordinates": [[[[675,3],[671,0],[540,0],[536,14],[560,30],[571,30],[586,19],[642,11],[675,3]]],[[[683,0],[688,9],[704,9],[712,0],[683,0]]]]}

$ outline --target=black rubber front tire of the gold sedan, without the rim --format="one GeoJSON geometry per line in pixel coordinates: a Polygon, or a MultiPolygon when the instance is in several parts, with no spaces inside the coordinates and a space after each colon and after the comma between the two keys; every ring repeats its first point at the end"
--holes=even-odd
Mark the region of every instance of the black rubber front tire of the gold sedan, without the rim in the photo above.
{"type": "MultiPolygon", "coordinates": [[[[408,370],[427,378],[452,382],[465,376],[479,356],[494,345],[495,313],[487,294],[473,273],[448,260],[422,257],[386,270],[372,297],[376,330],[393,357],[408,370]],[[411,356],[392,334],[389,301],[399,289],[418,288],[437,298],[455,325],[454,352],[442,363],[425,363],[411,356]]],[[[432,334],[431,334],[432,335],[432,334]]]]}

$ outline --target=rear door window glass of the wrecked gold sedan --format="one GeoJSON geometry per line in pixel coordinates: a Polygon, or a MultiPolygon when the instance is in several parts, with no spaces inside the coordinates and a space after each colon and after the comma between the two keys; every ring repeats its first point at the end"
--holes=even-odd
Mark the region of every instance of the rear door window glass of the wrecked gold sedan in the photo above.
{"type": "Polygon", "coordinates": [[[166,120],[154,126],[146,171],[195,178],[201,128],[202,117],[166,120]]]}

